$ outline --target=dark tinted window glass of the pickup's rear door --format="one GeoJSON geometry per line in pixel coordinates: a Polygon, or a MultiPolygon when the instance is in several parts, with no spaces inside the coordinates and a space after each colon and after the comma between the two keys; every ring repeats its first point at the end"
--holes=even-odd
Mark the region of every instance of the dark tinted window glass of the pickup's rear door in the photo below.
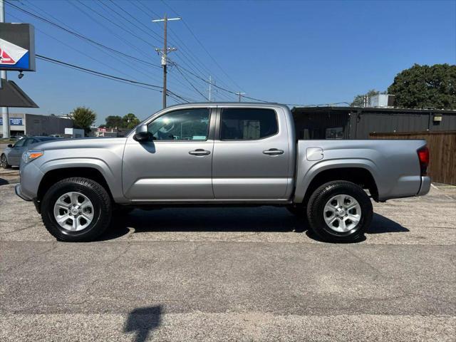
{"type": "Polygon", "coordinates": [[[224,108],[220,119],[220,140],[259,140],[279,131],[274,110],[224,108]]]}

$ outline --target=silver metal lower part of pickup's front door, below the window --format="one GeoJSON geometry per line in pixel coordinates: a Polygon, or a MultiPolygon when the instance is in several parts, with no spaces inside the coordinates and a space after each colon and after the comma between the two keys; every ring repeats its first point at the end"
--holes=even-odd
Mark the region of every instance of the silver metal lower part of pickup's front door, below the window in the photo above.
{"type": "Polygon", "coordinates": [[[128,138],[123,158],[125,197],[135,200],[213,199],[213,140],[137,142],[128,138]],[[190,155],[202,149],[209,155],[190,155]]]}

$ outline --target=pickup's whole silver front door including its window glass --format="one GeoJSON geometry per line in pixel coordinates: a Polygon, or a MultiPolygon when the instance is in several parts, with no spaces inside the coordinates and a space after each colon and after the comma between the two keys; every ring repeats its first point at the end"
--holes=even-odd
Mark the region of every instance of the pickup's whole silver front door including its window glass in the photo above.
{"type": "Polygon", "coordinates": [[[148,127],[156,140],[128,138],[123,157],[125,197],[141,202],[214,199],[214,140],[204,140],[209,138],[209,114],[204,114],[209,110],[190,111],[168,112],[153,120],[148,127]]]}

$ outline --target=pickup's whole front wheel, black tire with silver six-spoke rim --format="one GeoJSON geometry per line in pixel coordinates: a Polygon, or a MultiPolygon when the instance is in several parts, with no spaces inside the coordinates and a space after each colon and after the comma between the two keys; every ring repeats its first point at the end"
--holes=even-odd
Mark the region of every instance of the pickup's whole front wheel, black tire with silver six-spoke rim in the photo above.
{"type": "Polygon", "coordinates": [[[71,177],[54,184],[43,197],[41,217],[56,239],[93,241],[108,227],[112,211],[108,192],[94,180],[71,177]]]}

